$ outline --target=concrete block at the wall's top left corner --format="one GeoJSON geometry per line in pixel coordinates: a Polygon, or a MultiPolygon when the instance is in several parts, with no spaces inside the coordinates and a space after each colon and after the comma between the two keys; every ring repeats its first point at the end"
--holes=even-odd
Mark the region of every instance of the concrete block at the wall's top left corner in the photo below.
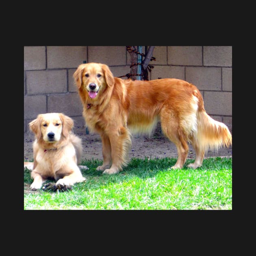
{"type": "Polygon", "coordinates": [[[46,47],[24,46],[24,70],[46,69],[46,47]]]}

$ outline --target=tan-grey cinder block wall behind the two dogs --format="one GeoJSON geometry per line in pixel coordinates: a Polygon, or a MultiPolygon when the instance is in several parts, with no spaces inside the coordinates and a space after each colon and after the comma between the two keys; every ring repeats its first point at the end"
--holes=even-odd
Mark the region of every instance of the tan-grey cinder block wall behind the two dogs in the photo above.
{"type": "MultiPolygon", "coordinates": [[[[206,112],[232,131],[232,46],[156,46],[153,56],[150,80],[193,83],[206,112]]],[[[126,46],[24,46],[24,132],[40,113],[63,112],[85,125],[72,77],[83,61],[104,63],[114,76],[130,72],[126,46]]]]}

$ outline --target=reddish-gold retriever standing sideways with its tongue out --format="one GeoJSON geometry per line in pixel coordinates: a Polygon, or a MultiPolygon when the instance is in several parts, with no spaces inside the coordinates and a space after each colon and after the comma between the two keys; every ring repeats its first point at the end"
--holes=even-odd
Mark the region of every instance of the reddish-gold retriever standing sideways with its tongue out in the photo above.
{"type": "Polygon", "coordinates": [[[195,162],[188,165],[191,168],[202,165],[207,150],[232,145],[228,127],[206,113],[200,91],[189,82],[174,78],[123,80],[101,63],[81,64],[73,77],[85,122],[102,138],[103,165],[97,169],[103,173],[118,173],[128,163],[130,131],[150,134],[158,121],[178,150],[178,160],[171,168],[183,167],[187,142],[196,153],[195,162]]]}

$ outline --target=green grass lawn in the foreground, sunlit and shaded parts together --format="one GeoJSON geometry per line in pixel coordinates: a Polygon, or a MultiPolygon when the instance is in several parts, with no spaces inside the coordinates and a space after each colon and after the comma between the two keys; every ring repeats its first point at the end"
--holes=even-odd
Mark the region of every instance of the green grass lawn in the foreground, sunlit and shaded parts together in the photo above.
{"type": "MultiPolygon", "coordinates": [[[[204,159],[202,167],[170,170],[175,158],[132,158],[119,174],[96,171],[83,161],[85,182],[62,193],[24,193],[24,210],[232,210],[232,158],[204,159]]],[[[32,183],[24,171],[24,187],[32,183]]]]}

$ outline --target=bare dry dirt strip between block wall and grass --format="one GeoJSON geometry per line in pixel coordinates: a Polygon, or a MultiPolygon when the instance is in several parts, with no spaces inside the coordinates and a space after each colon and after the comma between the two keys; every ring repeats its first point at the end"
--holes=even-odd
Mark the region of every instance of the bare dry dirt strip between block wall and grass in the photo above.
{"type": "MultiPolygon", "coordinates": [[[[102,160],[102,143],[98,134],[86,134],[85,128],[74,127],[74,133],[82,139],[84,154],[82,159],[102,160]]],[[[32,132],[24,133],[24,160],[33,160],[32,143],[34,135],[32,132]]],[[[177,150],[174,143],[163,137],[160,126],[156,127],[151,137],[133,136],[132,147],[129,152],[130,158],[177,158],[177,150]]],[[[217,153],[208,151],[205,157],[227,156],[232,157],[232,147],[221,149],[217,153]]],[[[195,158],[195,151],[189,145],[188,158],[195,158]]]]}

